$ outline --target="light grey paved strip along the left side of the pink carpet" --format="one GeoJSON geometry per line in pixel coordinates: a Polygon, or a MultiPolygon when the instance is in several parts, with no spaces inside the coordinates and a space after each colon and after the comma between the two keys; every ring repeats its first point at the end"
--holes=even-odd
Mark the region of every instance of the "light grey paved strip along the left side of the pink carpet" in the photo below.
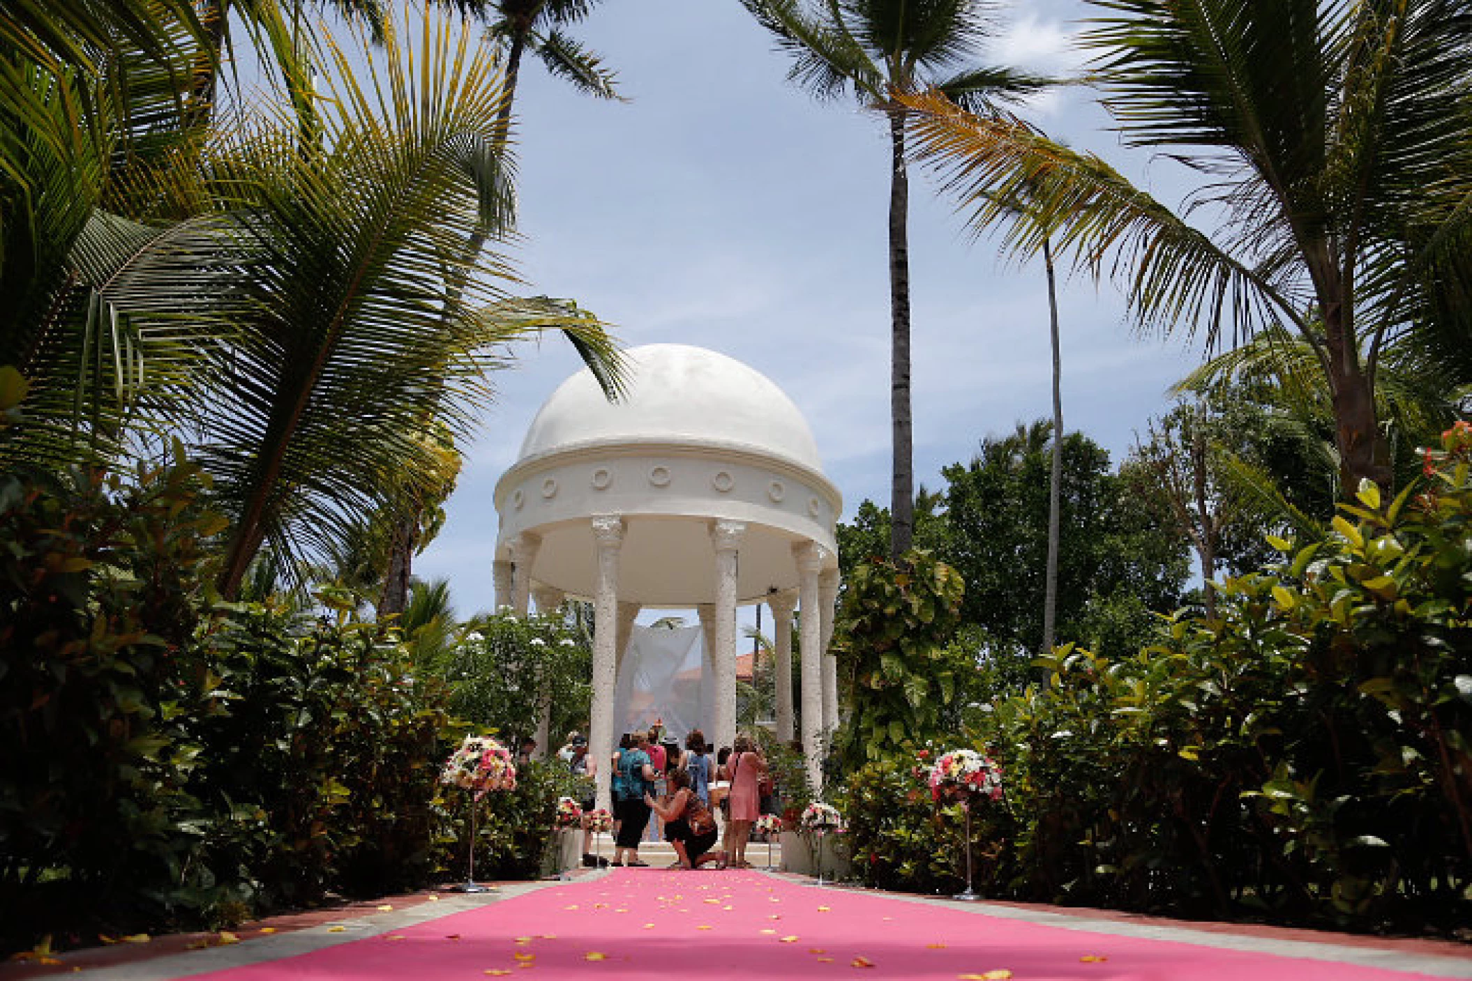
{"type": "MultiPolygon", "coordinates": [[[[222,947],[205,947],[202,950],[187,950],[160,957],[149,957],[131,963],[118,963],[106,968],[84,968],[78,972],[66,974],[69,978],[87,978],[88,981],[169,981],[172,978],[190,978],[212,971],[228,971],[230,968],[247,968],[256,963],[268,963],[284,957],[294,957],[314,950],[324,950],[339,944],[365,940],[390,934],[406,927],[417,927],[455,913],[471,909],[495,906],[508,899],[527,896],[555,885],[568,885],[573,881],[590,882],[606,877],[605,871],[587,872],[576,880],[539,880],[534,882],[511,882],[498,885],[493,893],[439,893],[436,903],[418,903],[409,909],[392,912],[374,912],[362,916],[327,921],[316,927],[293,930],[286,934],[266,937],[252,937],[237,944],[222,947]],[[342,930],[339,930],[342,928],[342,930]]],[[[65,955],[63,955],[65,957],[65,955]]],[[[65,969],[65,968],[63,968],[65,969]]]]}

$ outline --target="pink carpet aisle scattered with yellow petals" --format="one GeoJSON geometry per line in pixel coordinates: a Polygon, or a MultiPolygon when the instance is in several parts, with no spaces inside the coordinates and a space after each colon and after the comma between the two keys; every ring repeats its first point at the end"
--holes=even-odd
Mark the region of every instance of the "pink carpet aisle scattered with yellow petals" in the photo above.
{"type": "Polygon", "coordinates": [[[197,977],[1404,981],[1426,975],[1085,934],[755,872],[620,869],[380,937],[197,977]]]}

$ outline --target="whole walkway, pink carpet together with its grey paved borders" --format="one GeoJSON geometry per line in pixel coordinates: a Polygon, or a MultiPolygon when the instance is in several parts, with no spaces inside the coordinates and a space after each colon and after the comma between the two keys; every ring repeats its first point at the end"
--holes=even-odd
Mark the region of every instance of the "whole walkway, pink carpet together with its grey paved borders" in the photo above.
{"type": "MultiPolygon", "coordinates": [[[[1263,932],[817,888],[761,872],[617,869],[375,907],[290,932],[241,931],[243,943],[112,966],[68,956],[49,971],[107,981],[473,981],[524,972],[531,981],[1472,978],[1472,950],[1453,944],[1263,932]]],[[[0,968],[0,981],[35,969],[0,968]]]]}

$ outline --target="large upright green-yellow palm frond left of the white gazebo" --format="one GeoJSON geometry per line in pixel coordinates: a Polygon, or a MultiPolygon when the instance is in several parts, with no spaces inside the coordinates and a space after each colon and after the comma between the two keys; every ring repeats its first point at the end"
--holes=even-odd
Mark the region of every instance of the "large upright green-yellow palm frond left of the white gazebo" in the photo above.
{"type": "MultiPolygon", "coordinates": [[[[209,438],[197,452],[233,519],[227,597],[263,543],[325,553],[405,481],[439,472],[437,427],[468,431],[490,394],[484,372],[503,360],[492,352],[536,329],[487,306],[500,299],[487,284],[452,288],[486,224],[475,171],[493,160],[503,91],[487,43],[433,16],[422,29],[412,47],[359,53],[374,72],[339,49],[322,57],[337,109],[319,149],[290,151],[296,119],[283,109],[210,157],[252,257],[250,329],[199,407],[209,438]],[[386,474],[400,479],[386,487],[386,474]]],[[[480,268],[509,277],[496,257],[480,268]]],[[[611,354],[596,321],[568,329],[611,354]]]]}

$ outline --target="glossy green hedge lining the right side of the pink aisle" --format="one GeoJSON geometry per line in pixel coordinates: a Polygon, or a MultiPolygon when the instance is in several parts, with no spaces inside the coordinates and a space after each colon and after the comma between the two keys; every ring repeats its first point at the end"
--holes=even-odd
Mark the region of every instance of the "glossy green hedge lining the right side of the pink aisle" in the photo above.
{"type": "MultiPolygon", "coordinates": [[[[1472,427],[1422,485],[1366,485],[1332,534],[1226,579],[1122,657],[1060,647],[969,710],[1005,774],[995,896],[1360,930],[1472,915],[1472,427]],[[989,709],[989,710],[985,710],[989,709]]],[[[876,884],[949,888],[902,760],[848,778],[876,884]],[[886,860],[892,856],[892,860],[886,860]]],[[[913,781],[913,782],[911,782],[913,781]]],[[[955,866],[951,866],[952,869],[955,866]]]]}

